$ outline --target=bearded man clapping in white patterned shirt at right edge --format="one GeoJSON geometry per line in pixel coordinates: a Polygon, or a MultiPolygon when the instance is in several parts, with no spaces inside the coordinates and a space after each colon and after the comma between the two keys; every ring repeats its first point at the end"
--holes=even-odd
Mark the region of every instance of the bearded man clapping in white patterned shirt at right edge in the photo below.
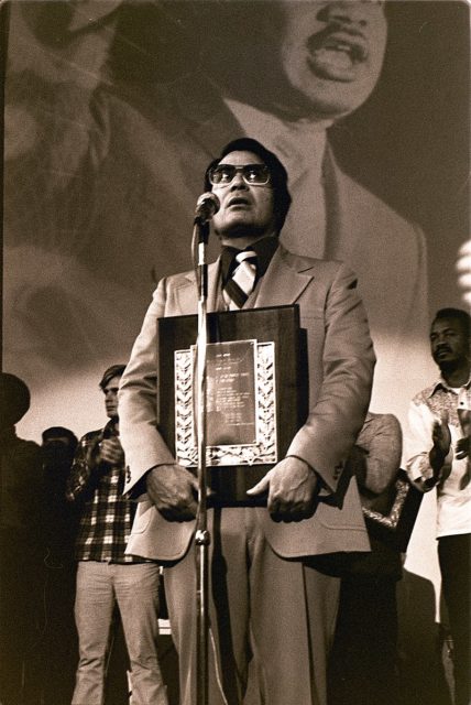
{"type": "Polygon", "coordinates": [[[438,557],[453,641],[454,703],[471,697],[471,317],[441,308],[430,327],[440,376],[409,409],[407,470],[424,492],[437,490],[438,557]]]}

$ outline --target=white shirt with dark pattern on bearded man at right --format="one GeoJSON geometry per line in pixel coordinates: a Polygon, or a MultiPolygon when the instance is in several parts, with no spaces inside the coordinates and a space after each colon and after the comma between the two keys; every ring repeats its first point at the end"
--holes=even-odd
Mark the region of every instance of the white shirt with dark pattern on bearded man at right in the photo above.
{"type": "Polygon", "coordinates": [[[432,447],[431,432],[435,421],[448,414],[451,447],[437,484],[438,514],[437,536],[471,532],[471,482],[469,459],[458,459],[454,455],[457,441],[464,433],[460,421],[461,410],[467,411],[470,402],[471,382],[460,389],[450,388],[443,379],[419,392],[409,408],[409,430],[407,471],[410,479],[423,490],[423,480],[432,477],[429,452],[432,447]]]}

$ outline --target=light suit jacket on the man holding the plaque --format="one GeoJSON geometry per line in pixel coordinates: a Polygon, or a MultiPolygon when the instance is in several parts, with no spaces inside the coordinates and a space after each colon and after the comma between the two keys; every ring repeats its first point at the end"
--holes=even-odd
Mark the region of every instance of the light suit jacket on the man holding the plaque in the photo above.
{"type": "MultiPolygon", "coordinates": [[[[209,311],[217,305],[218,271],[219,262],[209,265],[209,311]]],[[[287,455],[315,468],[325,489],[314,517],[300,522],[276,523],[266,509],[253,510],[281,556],[369,550],[354,479],[343,498],[336,495],[344,460],[363,424],[374,367],[366,315],[355,286],[355,276],[344,264],[295,256],[280,247],[244,306],[298,304],[300,324],[307,330],[309,414],[287,455]]],[[[157,318],[196,312],[193,272],[162,280],[122,377],[120,434],[129,468],[125,491],[131,495],[142,491],[140,480],[151,467],[174,462],[156,425],[157,318]]],[[[140,500],[128,551],[161,561],[180,558],[194,522],[165,521],[145,494],[140,500]]]]}

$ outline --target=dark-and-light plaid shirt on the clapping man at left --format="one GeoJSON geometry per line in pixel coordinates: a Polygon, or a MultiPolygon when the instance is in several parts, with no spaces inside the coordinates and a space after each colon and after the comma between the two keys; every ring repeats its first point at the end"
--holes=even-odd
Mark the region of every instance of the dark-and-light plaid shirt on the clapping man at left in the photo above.
{"type": "Polygon", "coordinates": [[[81,503],[75,551],[78,561],[146,562],[145,558],[124,555],[135,513],[134,502],[122,495],[124,464],[110,465],[98,460],[98,444],[117,435],[110,421],[105,429],[86,433],[77,446],[66,497],[81,503]]]}

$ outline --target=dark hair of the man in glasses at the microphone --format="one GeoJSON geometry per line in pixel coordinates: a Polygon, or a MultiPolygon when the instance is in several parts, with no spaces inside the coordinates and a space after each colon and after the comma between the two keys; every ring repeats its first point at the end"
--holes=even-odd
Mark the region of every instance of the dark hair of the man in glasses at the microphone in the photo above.
{"type": "Polygon", "coordinates": [[[292,203],[292,197],[288,191],[288,175],[286,169],[283,166],[276,154],[263,147],[263,144],[258,140],[253,140],[250,137],[242,137],[237,140],[232,140],[229,144],[226,144],[226,147],[222,148],[220,155],[212,160],[206,170],[205,191],[212,191],[212,185],[209,181],[209,170],[217,166],[219,162],[231,152],[252,152],[260,156],[262,162],[269,167],[274,192],[276,224],[281,230],[292,203]]]}

